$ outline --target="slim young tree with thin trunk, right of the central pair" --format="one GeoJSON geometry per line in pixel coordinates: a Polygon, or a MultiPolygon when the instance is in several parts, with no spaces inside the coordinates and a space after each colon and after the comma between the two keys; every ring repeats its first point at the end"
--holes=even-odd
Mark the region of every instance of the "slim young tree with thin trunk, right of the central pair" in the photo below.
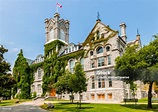
{"type": "Polygon", "coordinates": [[[74,67],[74,75],[75,75],[75,93],[79,93],[79,99],[80,99],[80,108],[81,108],[81,93],[87,91],[87,84],[86,84],[86,77],[85,72],[82,68],[82,65],[80,62],[77,62],[74,67]]]}

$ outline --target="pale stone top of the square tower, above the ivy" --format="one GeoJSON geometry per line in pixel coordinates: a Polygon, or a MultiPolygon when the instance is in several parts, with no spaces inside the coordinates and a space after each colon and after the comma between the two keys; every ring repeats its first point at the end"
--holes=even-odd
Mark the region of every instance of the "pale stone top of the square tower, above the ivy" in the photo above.
{"type": "Polygon", "coordinates": [[[60,40],[69,43],[69,21],[60,19],[60,14],[55,13],[54,18],[45,19],[46,44],[60,40]]]}

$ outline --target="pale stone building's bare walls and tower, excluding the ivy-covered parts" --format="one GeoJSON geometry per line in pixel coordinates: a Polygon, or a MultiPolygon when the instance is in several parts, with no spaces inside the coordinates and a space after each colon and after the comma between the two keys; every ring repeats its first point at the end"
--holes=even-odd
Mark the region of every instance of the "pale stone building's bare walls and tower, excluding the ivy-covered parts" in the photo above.
{"type": "MultiPolygon", "coordinates": [[[[116,77],[114,73],[115,59],[122,56],[125,52],[127,44],[137,44],[141,47],[140,35],[136,35],[136,40],[127,42],[126,24],[120,24],[120,34],[117,30],[111,29],[98,18],[89,35],[83,43],[69,43],[69,21],[60,19],[58,13],[54,14],[54,18],[45,19],[45,45],[59,40],[65,44],[60,49],[58,57],[67,56],[69,54],[84,51],[84,57],[79,59],[71,58],[67,60],[66,69],[73,72],[75,62],[80,61],[87,78],[87,91],[82,94],[82,100],[86,101],[114,101],[120,102],[123,98],[132,98],[129,85],[125,84],[121,78],[116,77]]],[[[47,53],[46,58],[53,52],[47,53]]],[[[44,61],[42,55],[38,55],[33,64],[44,61]]],[[[32,92],[37,92],[37,96],[42,94],[42,76],[44,70],[37,68],[34,72],[34,83],[32,84],[32,92]]],[[[138,82],[139,86],[142,85],[138,82]]],[[[146,91],[142,88],[138,89],[137,98],[145,96],[146,91]]],[[[50,92],[51,95],[51,92],[50,92]]],[[[53,94],[56,96],[56,94],[53,94]]],[[[68,94],[63,94],[62,98],[69,99],[68,94]]],[[[78,94],[75,94],[75,99],[79,99],[78,94]]]]}

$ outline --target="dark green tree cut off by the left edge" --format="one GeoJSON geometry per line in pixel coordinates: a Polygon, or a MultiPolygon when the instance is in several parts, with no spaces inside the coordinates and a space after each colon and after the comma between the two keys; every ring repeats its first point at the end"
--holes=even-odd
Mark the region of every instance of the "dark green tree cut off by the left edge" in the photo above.
{"type": "Polygon", "coordinates": [[[0,45],[0,97],[11,97],[11,88],[16,83],[9,73],[10,64],[5,61],[4,53],[8,50],[0,45]]]}

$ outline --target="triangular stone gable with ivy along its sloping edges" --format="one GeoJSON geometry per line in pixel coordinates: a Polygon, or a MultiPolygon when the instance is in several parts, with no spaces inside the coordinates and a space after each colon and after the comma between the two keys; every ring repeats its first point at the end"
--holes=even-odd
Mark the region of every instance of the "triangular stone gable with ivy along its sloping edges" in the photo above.
{"type": "Polygon", "coordinates": [[[93,29],[87,36],[86,40],[83,42],[82,46],[108,40],[109,37],[113,37],[117,33],[118,31],[111,29],[109,26],[103,24],[101,21],[97,21],[93,29]]]}

